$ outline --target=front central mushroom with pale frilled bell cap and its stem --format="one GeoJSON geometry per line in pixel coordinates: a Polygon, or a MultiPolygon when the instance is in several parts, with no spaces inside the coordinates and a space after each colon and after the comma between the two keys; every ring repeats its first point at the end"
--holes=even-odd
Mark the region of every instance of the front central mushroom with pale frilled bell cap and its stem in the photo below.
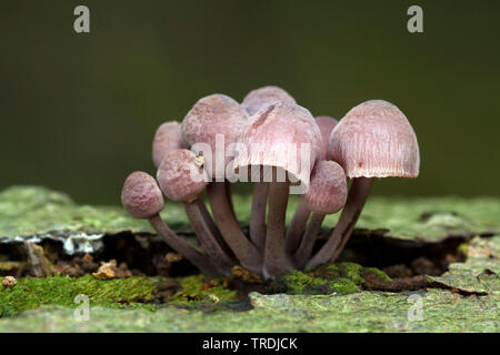
{"type": "Polygon", "coordinates": [[[309,187],[319,142],[320,131],[311,113],[298,104],[283,102],[258,111],[247,121],[240,135],[234,169],[240,174],[243,168],[272,170],[262,271],[266,278],[291,268],[284,253],[290,183],[299,181],[306,190],[309,187]]]}

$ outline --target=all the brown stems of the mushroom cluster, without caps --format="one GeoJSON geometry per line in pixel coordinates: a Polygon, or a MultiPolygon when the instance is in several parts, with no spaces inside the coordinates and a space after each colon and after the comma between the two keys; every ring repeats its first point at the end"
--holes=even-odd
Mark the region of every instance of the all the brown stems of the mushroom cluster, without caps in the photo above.
{"type": "Polygon", "coordinates": [[[248,235],[234,213],[230,183],[210,182],[207,196],[211,213],[201,196],[183,203],[201,248],[172,232],[159,214],[148,220],[170,247],[208,275],[228,275],[234,265],[241,265],[269,280],[292,268],[313,268],[337,258],[352,232],[371,181],[354,181],[338,227],[312,258],[324,214],[312,213],[300,202],[287,231],[288,182],[253,183],[248,235]]]}

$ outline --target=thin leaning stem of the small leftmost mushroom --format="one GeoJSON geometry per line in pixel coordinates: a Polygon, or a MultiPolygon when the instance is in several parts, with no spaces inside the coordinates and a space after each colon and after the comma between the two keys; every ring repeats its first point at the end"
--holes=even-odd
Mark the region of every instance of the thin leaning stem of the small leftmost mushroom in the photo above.
{"type": "Polygon", "coordinates": [[[173,233],[159,214],[149,217],[148,221],[158,235],[160,235],[171,248],[201,270],[203,274],[209,276],[219,275],[216,267],[210,262],[210,258],[197,251],[193,246],[189,245],[188,242],[182,240],[179,235],[173,233]]]}

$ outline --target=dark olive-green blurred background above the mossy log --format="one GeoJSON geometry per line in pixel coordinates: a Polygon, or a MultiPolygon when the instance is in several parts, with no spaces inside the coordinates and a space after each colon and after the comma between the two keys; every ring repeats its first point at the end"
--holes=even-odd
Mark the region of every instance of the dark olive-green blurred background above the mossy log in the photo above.
{"type": "Polygon", "coordinates": [[[159,124],[201,97],[280,85],[314,115],[397,104],[421,150],[383,195],[500,195],[499,1],[2,1],[0,190],[119,204],[159,124]],[[382,4],[383,3],[383,4],[382,4]],[[90,33],[73,9],[90,9],[90,33]],[[423,9],[423,33],[407,9],[423,9]]]}

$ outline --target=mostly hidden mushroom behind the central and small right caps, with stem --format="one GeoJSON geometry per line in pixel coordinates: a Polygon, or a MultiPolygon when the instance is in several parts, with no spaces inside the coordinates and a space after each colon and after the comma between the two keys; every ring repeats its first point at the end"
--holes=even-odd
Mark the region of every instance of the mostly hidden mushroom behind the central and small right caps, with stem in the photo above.
{"type": "MultiPolygon", "coordinates": [[[[327,159],[327,148],[330,139],[331,131],[337,125],[338,121],[329,115],[320,115],[316,118],[316,123],[318,124],[321,132],[321,151],[319,153],[318,160],[327,159]]],[[[303,230],[308,223],[311,211],[303,203],[303,199],[300,199],[293,217],[288,226],[287,237],[286,237],[286,250],[289,254],[293,254],[299,247],[300,240],[302,237],[303,230]]]]}

